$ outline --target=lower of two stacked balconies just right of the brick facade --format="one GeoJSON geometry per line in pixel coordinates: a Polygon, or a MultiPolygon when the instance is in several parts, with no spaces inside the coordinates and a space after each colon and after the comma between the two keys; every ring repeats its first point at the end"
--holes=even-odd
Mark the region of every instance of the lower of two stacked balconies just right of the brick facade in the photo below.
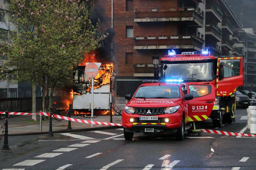
{"type": "Polygon", "coordinates": [[[207,24],[205,28],[205,34],[207,36],[206,39],[221,42],[222,32],[219,27],[215,27],[212,24],[207,24]]]}

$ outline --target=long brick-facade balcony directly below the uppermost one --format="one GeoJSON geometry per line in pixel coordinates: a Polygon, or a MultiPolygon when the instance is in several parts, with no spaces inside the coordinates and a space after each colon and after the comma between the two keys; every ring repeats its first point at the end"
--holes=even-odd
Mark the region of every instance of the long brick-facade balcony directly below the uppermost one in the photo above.
{"type": "Polygon", "coordinates": [[[204,40],[193,35],[135,37],[134,49],[191,49],[201,51],[203,43],[204,40]]]}

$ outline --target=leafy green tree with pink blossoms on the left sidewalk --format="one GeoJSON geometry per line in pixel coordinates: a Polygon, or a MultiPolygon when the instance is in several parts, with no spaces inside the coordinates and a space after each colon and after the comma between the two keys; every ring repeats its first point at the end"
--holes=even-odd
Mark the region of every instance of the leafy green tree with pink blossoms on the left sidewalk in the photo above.
{"type": "MultiPolygon", "coordinates": [[[[35,87],[48,75],[51,96],[54,87],[72,83],[72,68],[84,53],[98,48],[106,35],[91,22],[93,2],[84,0],[11,0],[9,30],[18,35],[2,41],[3,78],[32,83],[32,112],[36,112],[35,87]],[[6,76],[12,74],[15,76],[6,76]]],[[[35,118],[34,118],[35,119],[35,118]]]]}

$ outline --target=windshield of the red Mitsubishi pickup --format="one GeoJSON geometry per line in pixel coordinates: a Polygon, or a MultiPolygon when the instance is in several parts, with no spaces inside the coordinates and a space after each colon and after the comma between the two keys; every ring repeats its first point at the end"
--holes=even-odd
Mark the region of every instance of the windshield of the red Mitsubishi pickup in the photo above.
{"type": "Polygon", "coordinates": [[[179,86],[142,86],[135,98],[180,98],[179,86]]]}

